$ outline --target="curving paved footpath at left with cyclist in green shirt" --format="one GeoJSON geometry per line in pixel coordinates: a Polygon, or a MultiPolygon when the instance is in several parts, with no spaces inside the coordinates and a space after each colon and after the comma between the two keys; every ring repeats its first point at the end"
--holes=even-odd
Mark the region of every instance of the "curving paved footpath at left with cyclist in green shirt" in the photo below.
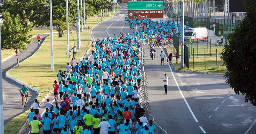
{"type": "MultiPolygon", "coordinates": [[[[41,35],[42,41],[44,41],[45,37],[49,34],[41,35]]],[[[27,59],[28,57],[32,56],[38,49],[39,45],[37,45],[36,36],[32,39],[33,43],[28,44],[28,49],[24,50],[22,53],[19,52],[19,60],[20,63],[27,59]]],[[[14,52],[14,51],[13,51],[14,52]]],[[[4,100],[4,126],[9,123],[12,118],[20,115],[21,113],[27,111],[34,100],[36,99],[37,95],[36,92],[29,90],[28,102],[26,107],[24,108],[21,106],[22,100],[20,97],[20,88],[22,85],[19,83],[11,80],[10,78],[5,77],[6,71],[10,70],[12,67],[17,65],[17,58],[16,55],[11,56],[6,61],[2,62],[3,67],[3,100],[4,100]],[[12,99],[10,99],[12,98],[12,99]]]]}

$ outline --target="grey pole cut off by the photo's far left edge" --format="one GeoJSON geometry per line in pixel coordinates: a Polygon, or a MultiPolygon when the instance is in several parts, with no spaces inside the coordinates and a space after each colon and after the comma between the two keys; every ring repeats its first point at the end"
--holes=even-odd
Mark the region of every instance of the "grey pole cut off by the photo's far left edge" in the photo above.
{"type": "MultiPolygon", "coordinates": [[[[4,3],[4,1],[3,1],[4,3]]],[[[1,25],[0,25],[0,48],[1,44],[1,25]]],[[[2,49],[0,49],[0,57],[2,57],[2,49]]],[[[3,106],[3,72],[2,72],[2,58],[0,58],[0,133],[4,133],[4,106],[3,106]]]]}

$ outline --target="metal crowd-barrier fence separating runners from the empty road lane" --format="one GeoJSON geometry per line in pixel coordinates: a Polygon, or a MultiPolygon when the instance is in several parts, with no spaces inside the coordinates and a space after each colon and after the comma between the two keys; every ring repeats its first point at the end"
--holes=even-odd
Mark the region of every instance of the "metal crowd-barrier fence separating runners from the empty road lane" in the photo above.
{"type": "Polygon", "coordinates": [[[144,63],[145,63],[145,61],[144,61],[144,49],[143,49],[143,44],[145,44],[145,40],[139,40],[139,42],[140,42],[140,46],[141,46],[141,48],[142,48],[142,52],[141,52],[141,61],[142,61],[142,73],[141,73],[141,75],[142,75],[142,83],[143,83],[143,87],[144,87],[144,91],[143,91],[143,95],[144,95],[144,106],[146,107],[146,108],[144,108],[144,110],[145,110],[145,115],[146,115],[146,117],[148,118],[148,120],[150,120],[150,119],[152,119],[153,121],[154,121],[154,124],[156,125],[156,134],[167,134],[167,132],[164,130],[164,129],[162,129],[156,122],[155,122],[155,119],[154,119],[154,117],[150,114],[150,112],[149,112],[149,110],[148,109],[150,109],[150,108],[148,108],[148,102],[147,102],[147,99],[148,99],[148,97],[147,97],[147,90],[146,90],[146,77],[145,77],[145,70],[144,70],[144,63]]]}

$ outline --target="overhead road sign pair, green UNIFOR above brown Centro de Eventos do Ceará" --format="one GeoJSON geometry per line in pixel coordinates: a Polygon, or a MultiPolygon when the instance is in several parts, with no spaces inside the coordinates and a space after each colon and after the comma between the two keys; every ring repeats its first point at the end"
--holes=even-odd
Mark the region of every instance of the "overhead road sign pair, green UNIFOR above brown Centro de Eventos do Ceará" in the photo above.
{"type": "Polygon", "coordinates": [[[163,1],[128,2],[128,19],[163,19],[163,1]]]}

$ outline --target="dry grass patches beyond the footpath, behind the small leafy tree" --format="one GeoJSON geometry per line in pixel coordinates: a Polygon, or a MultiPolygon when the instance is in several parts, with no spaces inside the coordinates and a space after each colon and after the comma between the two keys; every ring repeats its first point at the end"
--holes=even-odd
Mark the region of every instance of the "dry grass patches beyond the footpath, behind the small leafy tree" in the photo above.
{"type": "MultiPolygon", "coordinates": [[[[56,30],[53,30],[53,32],[56,32],[56,30]]],[[[48,30],[34,29],[28,34],[34,36],[35,34],[42,34],[42,33],[50,33],[50,29],[48,30]]],[[[13,53],[15,53],[14,50],[2,50],[2,60],[11,56],[13,53]]]]}

